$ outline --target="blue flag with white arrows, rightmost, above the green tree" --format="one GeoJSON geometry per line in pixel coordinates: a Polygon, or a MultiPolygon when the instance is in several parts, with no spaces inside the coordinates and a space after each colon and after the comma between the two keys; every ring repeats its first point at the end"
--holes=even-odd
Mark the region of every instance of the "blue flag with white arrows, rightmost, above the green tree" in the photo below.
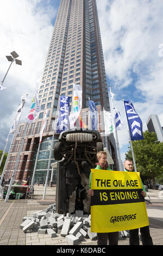
{"type": "Polygon", "coordinates": [[[124,100],[124,107],[126,109],[131,141],[139,141],[140,139],[143,139],[142,121],[136,113],[133,103],[124,100]]]}

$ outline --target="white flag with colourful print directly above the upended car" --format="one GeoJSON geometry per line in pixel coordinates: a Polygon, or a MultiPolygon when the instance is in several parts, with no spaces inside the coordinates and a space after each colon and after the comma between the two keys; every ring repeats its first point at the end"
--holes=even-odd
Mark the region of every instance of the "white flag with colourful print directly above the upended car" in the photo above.
{"type": "Polygon", "coordinates": [[[79,117],[82,109],[82,88],[79,84],[73,83],[73,97],[72,97],[72,114],[69,115],[70,129],[74,128],[74,123],[79,117]]]}

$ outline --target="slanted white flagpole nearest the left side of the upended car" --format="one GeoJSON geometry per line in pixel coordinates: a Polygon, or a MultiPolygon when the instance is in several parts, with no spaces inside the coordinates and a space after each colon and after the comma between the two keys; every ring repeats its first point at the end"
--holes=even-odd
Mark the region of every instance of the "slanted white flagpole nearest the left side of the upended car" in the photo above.
{"type": "Polygon", "coordinates": [[[55,118],[54,126],[53,126],[53,136],[52,136],[52,142],[51,142],[51,149],[50,149],[50,153],[49,153],[48,168],[47,168],[46,181],[45,181],[45,187],[44,187],[42,199],[45,199],[45,197],[46,197],[47,182],[48,182],[48,176],[49,176],[49,168],[50,168],[50,164],[51,164],[51,157],[52,157],[52,150],[53,150],[53,143],[54,143],[55,125],[56,125],[56,122],[57,122],[59,104],[60,104],[60,95],[59,95],[58,105],[57,105],[57,114],[56,114],[56,118],[55,118]]]}

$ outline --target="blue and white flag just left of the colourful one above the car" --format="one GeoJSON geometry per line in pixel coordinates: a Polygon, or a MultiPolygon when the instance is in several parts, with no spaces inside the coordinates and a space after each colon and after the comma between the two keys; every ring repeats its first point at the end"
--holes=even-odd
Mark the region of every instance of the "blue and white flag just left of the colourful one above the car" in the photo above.
{"type": "Polygon", "coordinates": [[[60,96],[60,105],[59,105],[59,117],[57,123],[57,133],[66,131],[69,129],[69,119],[70,114],[70,97],[69,96],[60,96]]]}

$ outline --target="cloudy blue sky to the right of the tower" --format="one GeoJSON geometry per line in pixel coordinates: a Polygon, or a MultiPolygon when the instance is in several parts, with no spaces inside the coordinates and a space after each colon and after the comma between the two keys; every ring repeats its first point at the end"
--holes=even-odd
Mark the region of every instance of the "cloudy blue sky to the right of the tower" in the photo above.
{"type": "MultiPolygon", "coordinates": [[[[97,0],[97,8],[106,75],[116,94],[114,106],[126,121],[121,98],[127,97],[133,101],[144,131],[150,114],[158,114],[163,126],[162,1],[97,0]]],[[[127,130],[118,133],[120,147],[128,145],[127,130]]]]}

